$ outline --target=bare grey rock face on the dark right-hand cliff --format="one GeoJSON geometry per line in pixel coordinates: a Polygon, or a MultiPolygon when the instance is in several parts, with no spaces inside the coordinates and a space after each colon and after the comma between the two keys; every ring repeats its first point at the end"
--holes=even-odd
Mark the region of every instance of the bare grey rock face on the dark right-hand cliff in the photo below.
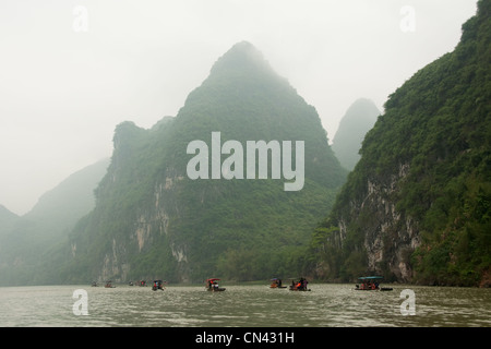
{"type": "Polygon", "coordinates": [[[400,164],[396,174],[370,178],[366,190],[338,217],[338,231],[331,237],[339,249],[357,230],[362,236],[358,248],[366,252],[366,273],[391,275],[398,281],[411,280],[410,255],[420,244],[417,222],[396,207],[397,189],[409,170],[400,164]]]}

